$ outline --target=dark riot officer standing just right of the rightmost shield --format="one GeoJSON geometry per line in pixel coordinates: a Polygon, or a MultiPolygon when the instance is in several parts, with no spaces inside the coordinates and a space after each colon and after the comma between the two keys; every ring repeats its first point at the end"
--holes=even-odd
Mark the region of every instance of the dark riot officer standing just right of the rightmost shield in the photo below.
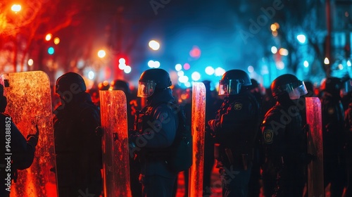
{"type": "Polygon", "coordinates": [[[321,86],[324,186],[331,184],[332,196],[341,196],[346,183],[344,108],[340,96],[342,85],[341,79],[327,77],[321,86]]]}

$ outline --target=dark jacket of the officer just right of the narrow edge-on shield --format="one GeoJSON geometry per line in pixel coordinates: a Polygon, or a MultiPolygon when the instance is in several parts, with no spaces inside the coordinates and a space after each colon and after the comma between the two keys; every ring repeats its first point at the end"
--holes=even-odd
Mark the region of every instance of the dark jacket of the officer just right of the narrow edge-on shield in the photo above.
{"type": "Polygon", "coordinates": [[[215,143],[220,144],[219,155],[215,155],[221,162],[218,165],[246,168],[244,163],[251,163],[259,115],[258,101],[251,93],[243,92],[225,98],[213,128],[215,143]],[[231,150],[232,161],[226,149],[231,150]]]}

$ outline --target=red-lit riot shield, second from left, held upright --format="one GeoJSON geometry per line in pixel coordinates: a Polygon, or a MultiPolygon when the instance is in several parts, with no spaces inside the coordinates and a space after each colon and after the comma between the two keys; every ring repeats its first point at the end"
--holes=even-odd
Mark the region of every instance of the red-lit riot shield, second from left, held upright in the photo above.
{"type": "Polygon", "coordinates": [[[130,197],[127,101],[123,91],[99,91],[103,129],[103,188],[105,196],[130,197]]]}

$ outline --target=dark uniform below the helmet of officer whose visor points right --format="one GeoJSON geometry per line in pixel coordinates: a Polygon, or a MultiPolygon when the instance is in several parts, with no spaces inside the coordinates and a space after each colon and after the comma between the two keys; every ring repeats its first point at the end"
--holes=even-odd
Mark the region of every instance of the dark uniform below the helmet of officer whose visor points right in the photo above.
{"type": "Polygon", "coordinates": [[[305,133],[301,114],[294,103],[277,102],[266,113],[261,130],[265,162],[263,185],[265,196],[302,196],[305,133]]]}

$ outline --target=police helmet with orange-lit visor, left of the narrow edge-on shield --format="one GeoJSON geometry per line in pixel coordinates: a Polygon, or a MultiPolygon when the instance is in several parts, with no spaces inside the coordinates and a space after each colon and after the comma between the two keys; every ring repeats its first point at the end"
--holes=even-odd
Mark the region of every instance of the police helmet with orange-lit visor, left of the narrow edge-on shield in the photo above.
{"type": "Polygon", "coordinates": [[[152,68],[144,71],[139,77],[137,96],[146,98],[153,95],[155,91],[162,91],[171,85],[168,72],[161,68],[152,68]]]}

